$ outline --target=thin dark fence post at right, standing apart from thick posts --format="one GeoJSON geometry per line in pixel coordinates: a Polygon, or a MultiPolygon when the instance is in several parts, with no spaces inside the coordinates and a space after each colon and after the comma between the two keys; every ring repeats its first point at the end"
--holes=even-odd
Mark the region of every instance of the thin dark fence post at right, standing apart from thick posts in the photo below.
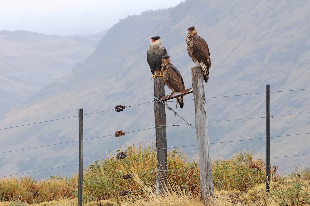
{"type": "Polygon", "coordinates": [[[270,192],[270,85],[266,84],[266,190],[270,192]]]}

